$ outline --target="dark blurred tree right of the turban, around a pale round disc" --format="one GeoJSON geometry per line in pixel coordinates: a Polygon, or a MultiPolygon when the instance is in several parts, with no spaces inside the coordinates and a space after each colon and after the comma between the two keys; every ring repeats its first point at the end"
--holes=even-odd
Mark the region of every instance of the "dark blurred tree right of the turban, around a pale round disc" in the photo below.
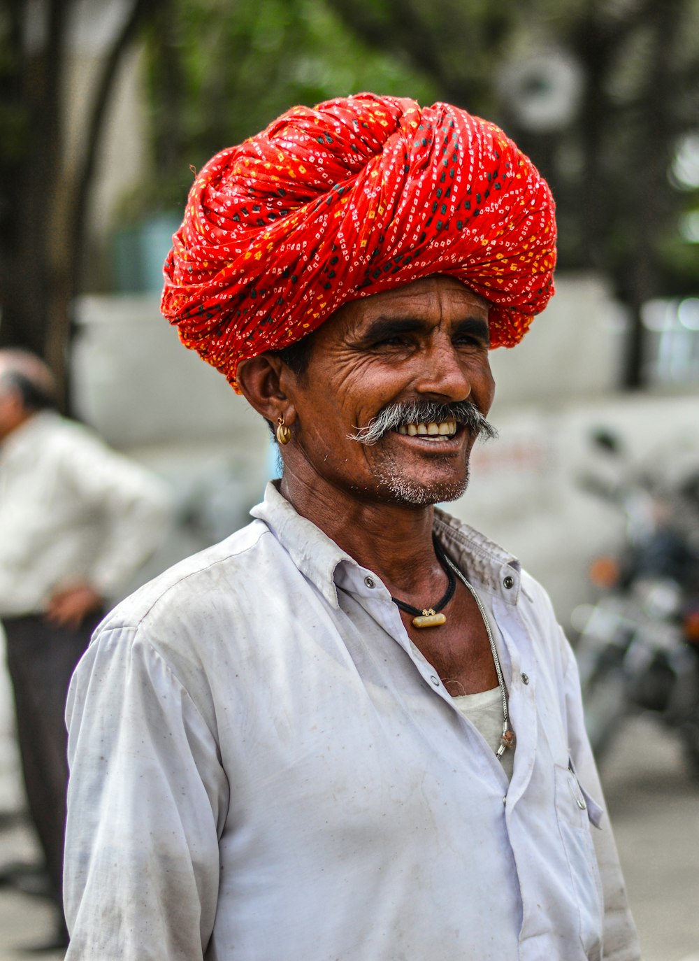
{"type": "Polygon", "coordinates": [[[609,275],[631,317],[623,381],[641,385],[640,308],[696,293],[699,176],[668,176],[699,131],[697,0],[327,0],[348,27],[501,123],[551,183],[560,266],[609,275]],[[678,189],[682,187],[682,189],[678,189]]]}

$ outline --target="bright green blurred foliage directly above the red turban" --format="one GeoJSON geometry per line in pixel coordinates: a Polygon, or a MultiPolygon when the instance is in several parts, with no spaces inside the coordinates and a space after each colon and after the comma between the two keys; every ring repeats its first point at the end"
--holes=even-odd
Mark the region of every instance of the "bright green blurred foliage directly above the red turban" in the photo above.
{"type": "Polygon", "coordinates": [[[181,214],[199,168],[292,104],[359,89],[430,100],[438,85],[404,54],[374,51],[323,0],[172,0],[149,30],[153,178],[122,216],[181,214]]]}

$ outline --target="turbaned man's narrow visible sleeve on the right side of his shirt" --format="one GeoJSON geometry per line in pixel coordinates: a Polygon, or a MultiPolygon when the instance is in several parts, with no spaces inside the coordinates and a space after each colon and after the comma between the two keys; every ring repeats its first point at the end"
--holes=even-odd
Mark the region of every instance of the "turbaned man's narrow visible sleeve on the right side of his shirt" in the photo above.
{"type": "MultiPolygon", "coordinates": [[[[567,641],[565,644],[568,655],[565,674],[566,719],[571,760],[580,783],[592,798],[603,803],[602,786],[585,730],[578,668],[567,641]]],[[[600,827],[592,827],[591,831],[604,897],[604,961],[639,961],[636,925],[629,908],[609,818],[604,817],[600,827]]]]}

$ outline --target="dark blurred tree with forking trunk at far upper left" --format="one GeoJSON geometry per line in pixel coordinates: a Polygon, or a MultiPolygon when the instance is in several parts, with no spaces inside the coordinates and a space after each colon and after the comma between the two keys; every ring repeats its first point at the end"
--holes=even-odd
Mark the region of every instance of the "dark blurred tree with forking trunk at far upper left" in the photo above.
{"type": "Polygon", "coordinates": [[[0,5],[0,344],[45,357],[63,391],[70,305],[81,281],[85,214],[109,94],[124,54],[166,2],[111,4],[122,15],[113,18],[70,159],[67,49],[84,5],[0,5]]]}

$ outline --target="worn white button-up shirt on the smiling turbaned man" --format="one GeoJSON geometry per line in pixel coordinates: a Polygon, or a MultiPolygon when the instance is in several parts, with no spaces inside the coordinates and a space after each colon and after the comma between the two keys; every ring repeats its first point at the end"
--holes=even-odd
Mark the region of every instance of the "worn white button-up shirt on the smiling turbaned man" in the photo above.
{"type": "Polygon", "coordinates": [[[380,579],[273,485],[253,516],[120,604],[73,678],[67,961],[637,961],[539,584],[437,512],[499,628],[508,783],[380,579]]]}

